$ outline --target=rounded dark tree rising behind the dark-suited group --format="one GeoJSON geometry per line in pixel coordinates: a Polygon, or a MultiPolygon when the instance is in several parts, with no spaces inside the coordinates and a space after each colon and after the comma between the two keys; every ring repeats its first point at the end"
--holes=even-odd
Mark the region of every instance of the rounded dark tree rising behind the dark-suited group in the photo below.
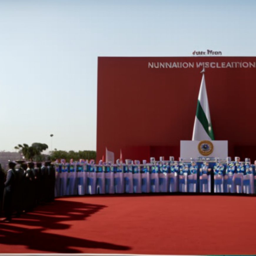
{"type": "Polygon", "coordinates": [[[23,143],[23,145],[18,144],[18,146],[15,146],[14,148],[18,149],[26,158],[26,160],[44,161],[45,159],[43,155],[41,155],[41,152],[46,150],[48,146],[44,143],[35,142],[31,146],[29,146],[26,143],[23,143]]]}

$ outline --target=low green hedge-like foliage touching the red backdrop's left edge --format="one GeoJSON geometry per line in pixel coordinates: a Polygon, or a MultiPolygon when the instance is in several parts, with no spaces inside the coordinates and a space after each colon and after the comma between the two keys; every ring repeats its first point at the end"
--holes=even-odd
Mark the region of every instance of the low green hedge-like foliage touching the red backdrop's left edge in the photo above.
{"type": "Polygon", "coordinates": [[[79,159],[94,159],[96,161],[96,151],[79,150],[75,152],[74,150],[70,150],[67,152],[64,150],[54,150],[51,152],[51,161],[55,161],[56,159],[66,159],[67,161],[70,161],[70,159],[74,161],[78,161],[79,159]]]}

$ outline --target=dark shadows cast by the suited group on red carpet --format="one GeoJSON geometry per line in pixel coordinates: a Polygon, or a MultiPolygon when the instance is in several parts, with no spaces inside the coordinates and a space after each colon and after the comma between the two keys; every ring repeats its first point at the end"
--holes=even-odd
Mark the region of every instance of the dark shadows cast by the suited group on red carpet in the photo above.
{"type": "MultiPolygon", "coordinates": [[[[130,247],[113,243],[98,242],[69,236],[71,221],[86,220],[87,217],[104,209],[104,205],[94,205],[74,201],[55,201],[49,205],[39,206],[34,212],[14,218],[11,223],[0,223],[0,253],[33,251],[56,253],[81,253],[80,248],[102,248],[108,250],[129,250],[130,247]],[[63,223],[65,222],[65,223],[63,223]],[[51,234],[54,230],[63,230],[63,234],[51,234]],[[6,245],[6,246],[5,246],[6,245]],[[25,251],[11,249],[22,245],[25,251]],[[29,250],[30,251],[30,250],[29,250]]],[[[60,233],[58,231],[58,233],[60,233]]],[[[86,233],[86,230],[84,230],[86,233]]],[[[18,249],[19,250],[19,249],[18,249]]]]}

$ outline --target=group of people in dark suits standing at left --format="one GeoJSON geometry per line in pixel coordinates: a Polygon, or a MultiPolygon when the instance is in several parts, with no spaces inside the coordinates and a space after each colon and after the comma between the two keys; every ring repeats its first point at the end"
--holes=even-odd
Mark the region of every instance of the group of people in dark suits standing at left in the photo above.
{"type": "Polygon", "coordinates": [[[50,161],[9,161],[6,175],[0,165],[0,215],[10,222],[37,205],[54,200],[55,169],[50,161]]]}

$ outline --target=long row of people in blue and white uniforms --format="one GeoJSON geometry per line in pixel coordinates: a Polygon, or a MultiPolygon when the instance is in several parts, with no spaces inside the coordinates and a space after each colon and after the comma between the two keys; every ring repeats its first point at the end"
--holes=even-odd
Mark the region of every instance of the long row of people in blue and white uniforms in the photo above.
{"type": "Polygon", "coordinates": [[[230,192],[253,194],[255,165],[249,162],[178,162],[126,164],[94,161],[55,163],[55,196],[148,193],[230,192]]]}

